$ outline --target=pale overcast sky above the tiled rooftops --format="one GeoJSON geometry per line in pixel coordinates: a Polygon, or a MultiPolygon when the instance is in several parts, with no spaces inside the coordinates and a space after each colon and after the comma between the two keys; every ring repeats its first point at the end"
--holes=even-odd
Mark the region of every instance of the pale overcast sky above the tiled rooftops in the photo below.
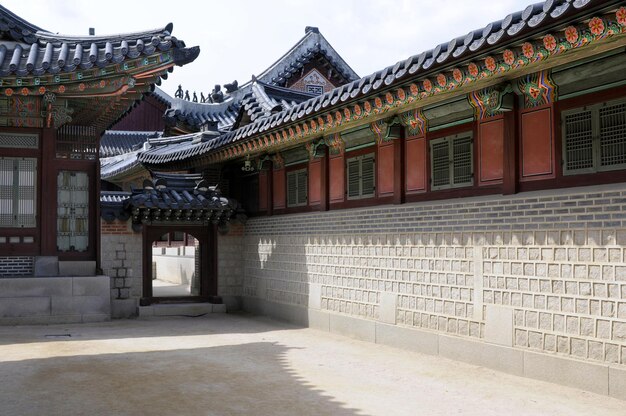
{"type": "Polygon", "coordinates": [[[51,32],[125,33],[174,23],[173,35],[200,46],[191,64],[161,86],[208,93],[269,67],[317,26],[360,76],[523,10],[532,0],[0,0],[51,32]]]}

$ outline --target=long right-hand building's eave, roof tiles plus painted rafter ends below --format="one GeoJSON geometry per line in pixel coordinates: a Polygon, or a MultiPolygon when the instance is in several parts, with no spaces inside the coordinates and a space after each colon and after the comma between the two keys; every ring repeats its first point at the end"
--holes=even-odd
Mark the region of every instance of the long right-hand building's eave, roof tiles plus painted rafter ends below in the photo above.
{"type": "MultiPolygon", "coordinates": [[[[175,168],[183,163],[195,166],[276,151],[551,68],[569,59],[577,59],[577,56],[620,47],[626,44],[626,22],[618,24],[615,11],[622,4],[620,1],[547,0],[471,32],[465,38],[453,39],[448,45],[439,45],[289,110],[226,133],[208,142],[203,153],[186,149],[168,154],[167,158],[151,158],[146,162],[152,166],[169,164],[175,168]],[[603,32],[592,33],[591,17],[603,22],[603,32]],[[577,36],[582,41],[572,43],[566,40],[566,26],[572,25],[577,28],[577,36]],[[502,30],[504,32],[499,37],[494,35],[502,30]],[[553,51],[543,46],[543,36],[548,35],[555,37],[560,45],[553,51]],[[525,56],[524,42],[531,45],[532,56],[525,56]],[[589,45],[597,46],[589,48],[589,45]],[[458,53],[455,53],[457,48],[458,53]],[[507,48],[513,50],[516,57],[511,64],[504,63],[503,52],[507,48]],[[455,70],[460,71],[459,81],[455,78],[455,70]],[[472,75],[473,71],[475,75],[472,75]],[[358,113],[355,113],[357,107],[358,113]]],[[[626,13],[624,6],[620,10],[626,13]]]]}

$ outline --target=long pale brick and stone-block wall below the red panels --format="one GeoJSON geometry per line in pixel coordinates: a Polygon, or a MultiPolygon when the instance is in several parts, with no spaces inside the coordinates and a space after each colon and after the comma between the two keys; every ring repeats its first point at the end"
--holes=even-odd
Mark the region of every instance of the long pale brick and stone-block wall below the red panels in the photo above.
{"type": "Polygon", "coordinates": [[[246,309],[626,398],[624,184],[254,218],[244,244],[246,309]]]}

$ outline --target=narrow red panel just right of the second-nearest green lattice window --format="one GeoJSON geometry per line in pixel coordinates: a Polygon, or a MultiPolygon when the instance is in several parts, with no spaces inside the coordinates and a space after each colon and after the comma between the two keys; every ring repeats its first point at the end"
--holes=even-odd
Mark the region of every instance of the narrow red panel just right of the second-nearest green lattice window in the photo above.
{"type": "Polygon", "coordinates": [[[504,119],[480,123],[478,128],[479,184],[502,183],[504,177],[504,119]]]}

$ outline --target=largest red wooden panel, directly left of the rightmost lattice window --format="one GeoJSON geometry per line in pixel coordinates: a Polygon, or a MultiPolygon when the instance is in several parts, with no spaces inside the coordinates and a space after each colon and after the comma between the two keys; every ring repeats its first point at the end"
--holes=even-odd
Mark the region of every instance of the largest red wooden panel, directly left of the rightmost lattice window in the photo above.
{"type": "Polygon", "coordinates": [[[554,174],[552,110],[542,108],[521,117],[521,178],[542,179],[554,174]]]}

